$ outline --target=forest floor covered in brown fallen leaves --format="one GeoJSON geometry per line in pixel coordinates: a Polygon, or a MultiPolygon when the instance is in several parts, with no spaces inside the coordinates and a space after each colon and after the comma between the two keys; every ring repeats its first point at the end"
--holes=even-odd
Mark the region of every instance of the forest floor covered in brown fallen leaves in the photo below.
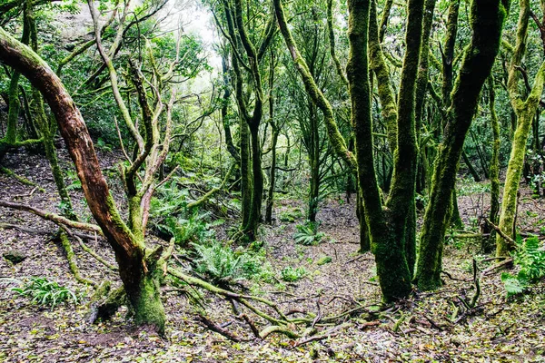
{"type": "MultiPolygon", "coordinates": [[[[102,158],[104,169],[114,171],[115,158],[102,158]]],[[[69,162],[64,156],[64,166],[69,162]]],[[[0,200],[18,201],[55,211],[58,198],[47,164],[42,158],[24,153],[9,155],[5,166],[36,182],[45,192],[0,174],[0,200]]],[[[106,172],[107,173],[107,172],[106,172]]],[[[77,182],[74,180],[74,186],[77,182]]],[[[117,188],[117,189],[116,189],[117,188]]],[[[119,187],[114,193],[121,192],[119,187]]],[[[460,184],[460,210],[466,231],[479,229],[479,217],[486,215],[488,192],[485,184],[460,184]]],[[[71,191],[76,209],[84,212],[81,191],[71,191]]],[[[303,210],[301,201],[278,202],[276,214],[303,210]]],[[[88,214],[88,212],[86,212],[88,214]]],[[[520,198],[521,231],[543,237],[545,203],[531,199],[529,191],[520,198]]],[[[354,204],[327,201],[318,219],[326,236],[315,246],[296,245],[292,234],[302,218],[292,222],[276,221],[263,226],[261,240],[267,259],[279,276],[287,267],[304,268],[307,276],[293,283],[262,284],[253,287],[263,297],[276,301],[284,311],[304,309],[323,316],[350,309],[354,300],[372,309],[380,304],[374,263],[370,253],[356,254],[358,225],[354,204]],[[330,263],[319,265],[324,256],[330,263]],[[319,307],[319,308],[318,308],[319,307]]],[[[48,231],[28,234],[13,229],[0,230],[0,254],[20,250],[26,260],[13,265],[0,258],[0,361],[6,362],[312,362],[312,361],[438,361],[438,362],[537,362],[545,361],[545,294],[534,289],[516,299],[506,299],[500,272],[481,278],[481,296],[475,309],[463,310],[451,321],[461,300],[469,300],[473,290],[473,258],[481,261],[476,239],[453,240],[444,256],[444,287],[430,293],[413,294],[388,314],[375,319],[360,319],[354,314],[330,338],[296,346],[296,341],[271,336],[263,341],[233,342],[214,333],[196,320],[195,308],[183,295],[164,292],[167,314],[166,338],[136,329],[124,319],[124,311],[114,319],[88,324],[89,296],[92,289],[78,284],[71,274],[62,248],[51,235],[52,223],[22,211],[0,210],[0,223],[14,223],[48,231]],[[82,303],[48,309],[33,304],[10,289],[10,279],[46,277],[86,295],[82,303]],[[455,279],[455,280],[452,280],[455,279]]],[[[221,234],[221,233],[220,233],[221,234]]],[[[114,261],[109,246],[102,240],[90,241],[105,259],[114,261]]],[[[112,271],[89,258],[74,246],[85,277],[93,280],[119,279],[112,271]]],[[[490,262],[479,262],[481,270],[490,262]]],[[[280,282],[280,280],[278,280],[280,282]]],[[[237,319],[223,299],[206,294],[209,319],[229,326],[241,337],[251,333],[237,319]]],[[[359,305],[357,305],[359,306],[359,305]]]]}

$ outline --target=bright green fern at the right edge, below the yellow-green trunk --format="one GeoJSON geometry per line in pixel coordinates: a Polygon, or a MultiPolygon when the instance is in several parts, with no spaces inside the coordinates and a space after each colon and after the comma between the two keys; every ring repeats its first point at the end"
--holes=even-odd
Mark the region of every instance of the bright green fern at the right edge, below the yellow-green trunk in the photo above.
{"type": "Polygon", "coordinates": [[[540,249],[538,237],[530,237],[519,243],[513,261],[520,266],[517,275],[502,273],[501,280],[508,296],[526,291],[531,284],[545,277],[545,250],[540,249]]]}

